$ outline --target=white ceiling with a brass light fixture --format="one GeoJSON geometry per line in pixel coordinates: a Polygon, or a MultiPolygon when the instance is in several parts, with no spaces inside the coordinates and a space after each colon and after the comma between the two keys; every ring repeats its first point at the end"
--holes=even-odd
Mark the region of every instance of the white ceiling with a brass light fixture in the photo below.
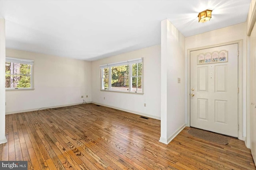
{"type": "Polygon", "coordinates": [[[6,47],[94,61],[161,43],[161,21],[185,36],[246,21],[251,0],[0,0],[6,47]],[[198,13],[212,19],[198,23],[198,13]]]}

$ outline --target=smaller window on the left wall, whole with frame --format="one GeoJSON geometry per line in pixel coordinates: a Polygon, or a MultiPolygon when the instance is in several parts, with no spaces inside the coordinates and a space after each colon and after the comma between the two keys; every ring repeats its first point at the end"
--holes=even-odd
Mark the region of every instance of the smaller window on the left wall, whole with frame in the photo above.
{"type": "Polygon", "coordinates": [[[6,57],[5,88],[32,89],[32,70],[34,61],[6,57]]]}

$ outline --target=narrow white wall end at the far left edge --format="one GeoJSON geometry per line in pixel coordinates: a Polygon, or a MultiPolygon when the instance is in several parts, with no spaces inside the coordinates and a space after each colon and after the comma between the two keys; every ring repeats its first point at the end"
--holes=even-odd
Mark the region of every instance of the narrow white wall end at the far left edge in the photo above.
{"type": "Polygon", "coordinates": [[[5,137],[5,20],[0,18],[0,144],[5,137]]]}

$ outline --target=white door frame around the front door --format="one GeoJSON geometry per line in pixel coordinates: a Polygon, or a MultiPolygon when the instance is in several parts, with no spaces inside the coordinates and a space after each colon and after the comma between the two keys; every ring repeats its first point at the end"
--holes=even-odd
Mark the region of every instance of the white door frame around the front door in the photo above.
{"type": "Polygon", "coordinates": [[[213,47],[220,47],[224,45],[238,44],[239,57],[238,57],[238,139],[243,140],[243,40],[231,41],[222,44],[208,45],[204,47],[197,47],[193,49],[188,49],[187,53],[187,89],[186,89],[186,98],[187,98],[187,126],[190,127],[190,52],[197,51],[202,49],[208,49],[213,47]]]}

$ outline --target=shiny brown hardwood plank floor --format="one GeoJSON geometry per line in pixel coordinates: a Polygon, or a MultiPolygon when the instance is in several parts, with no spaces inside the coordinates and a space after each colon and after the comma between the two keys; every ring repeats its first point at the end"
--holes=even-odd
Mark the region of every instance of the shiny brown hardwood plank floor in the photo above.
{"type": "Polygon", "coordinates": [[[189,135],[165,145],[160,121],[116,109],[77,108],[6,115],[1,160],[27,160],[34,170],[255,170],[244,141],[218,145],[189,135]]]}

